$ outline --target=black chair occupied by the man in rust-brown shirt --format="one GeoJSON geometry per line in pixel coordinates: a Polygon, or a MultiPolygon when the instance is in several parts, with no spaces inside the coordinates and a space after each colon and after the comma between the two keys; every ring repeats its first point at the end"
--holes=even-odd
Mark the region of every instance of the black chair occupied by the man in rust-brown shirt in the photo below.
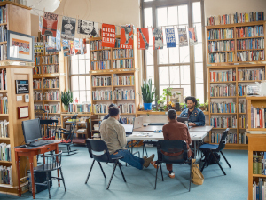
{"type": "Polygon", "coordinates": [[[190,186],[191,191],[192,184],[192,158],[189,158],[188,149],[184,140],[160,140],[157,142],[157,169],[155,178],[155,188],[157,184],[158,165],[160,164],[161,179],[163,181],[163,175],[161,170],[161,164],[190,164],[190,186]],[[168,156],[168,154],[178,154],[178,156],[168,156]]]}

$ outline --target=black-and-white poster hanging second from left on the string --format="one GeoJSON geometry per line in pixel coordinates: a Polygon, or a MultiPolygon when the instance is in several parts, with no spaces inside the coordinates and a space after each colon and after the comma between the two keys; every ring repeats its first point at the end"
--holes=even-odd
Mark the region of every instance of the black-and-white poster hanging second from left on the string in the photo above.
{"type": "Polygon", "coordinates": [[[63,16],[61,38],[63,40],[74,41],[74,33],[75,33],[75,18],[63,16]]]}

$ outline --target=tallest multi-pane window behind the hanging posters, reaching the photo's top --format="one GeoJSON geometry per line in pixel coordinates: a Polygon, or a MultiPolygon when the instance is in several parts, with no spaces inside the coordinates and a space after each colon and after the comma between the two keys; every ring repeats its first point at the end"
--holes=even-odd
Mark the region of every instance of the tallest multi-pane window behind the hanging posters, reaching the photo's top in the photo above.
{"type": "Polygon", "coordinates": [[[150,48],[145,51],[145,75],[152,78],[160,96],[164,88],[184,88],[184,96],[193,95],[203,103],[204,68],[202,48],[201,2],[173,4],[173,1],[147,1],[143,3],[143,23],[149,28],[150,48]],[[166,5],[167,4],[167,5],[166,5]],[[189,12],[191,11],[191,12],[189,12]],[[198,44],[179,46],[177,28],[196,27],[198,44]],[[163,49],[153,51],[152,28],[162,28],[163,49]],[[165,28],[175,28],[176,48],[167,48],[165,28]]]}

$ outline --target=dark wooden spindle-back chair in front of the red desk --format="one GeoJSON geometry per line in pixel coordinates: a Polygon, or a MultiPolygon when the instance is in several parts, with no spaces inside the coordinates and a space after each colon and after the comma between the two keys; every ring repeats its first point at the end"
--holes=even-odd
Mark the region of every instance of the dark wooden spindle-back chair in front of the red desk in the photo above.
{"type": "Polygon", "coordinates": [[[47,186],[48,192],[49,192],[49,198],[51,198],[50,182],[52,180],[62,180],[63,184],[64,184],[65,191],[66,191],[65,180],[64,180],[64,176],[63,176],[63,172],[62,172],[62,168],[61,168],[61,156],[62,156],[62,151],[59,152],[59,154],[43,156],[43,164],[38,165],[34,168],[34,172],[45,172],[46,173],[46,181],[44,181],[42,183],[35,181],[35,185],[47,186]],[[61,174],[61,178],[60,177],[51,177],[50,178],[49,173],[51,173],[52,171],[57,171],[57,170],[59,170],[59,172],[61,174]]]}

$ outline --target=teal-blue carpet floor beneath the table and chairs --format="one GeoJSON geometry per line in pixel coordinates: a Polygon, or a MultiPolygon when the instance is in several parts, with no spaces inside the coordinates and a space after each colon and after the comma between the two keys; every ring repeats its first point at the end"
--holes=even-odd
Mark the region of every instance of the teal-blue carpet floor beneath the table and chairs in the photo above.
{"type": "MultiPolygon", "coordinates": [[[[92,159],[85,147],[74,146],[78,154],[62,157],[62,170],[65,176],[66,189],[57,186],[57,180],[53,181],[51,199],[195,199],[195,200],[243,200],[247,199],[247,151],[223,150],[224,155],[231,164],[231,168],[221,158],[221,164],[226,176],[217,164],[208,166],[203,175],[204,183],[201,186],[192,183],[189,187],[189,166],[187,164],[174,164],[175,179],[168,178],[165,164],[162,165],[164,181],[159,179],[157,189],[154,190],[156,170],[150,165],[145,170],[137,170],[131,166],[125,166],[122,170],[127,183],[122,180],[121,172],[116,169],[109,190],[106,190],[109,178],[113,170],[113,164],[102,164],[106,172],[104,178],[98,164],[94,164],[88,184],[84,184],[90,170],[92,159]]],[[[156,153],[156,148],[147,148],[149,155],[156,153]]],[[[156,154],[155,154],[156,155],[156,154]]],[[[156,159],[156,156],[155,156],[156,159]]],[[[56,173],[54,173],[56,175],[56,173]]],[[[36,194],[36,199],[48,199],[48,190],[36,194]]],[[[0,199],[32,199],[27,192],[21,197],[0,194],[0,199]]]]}

